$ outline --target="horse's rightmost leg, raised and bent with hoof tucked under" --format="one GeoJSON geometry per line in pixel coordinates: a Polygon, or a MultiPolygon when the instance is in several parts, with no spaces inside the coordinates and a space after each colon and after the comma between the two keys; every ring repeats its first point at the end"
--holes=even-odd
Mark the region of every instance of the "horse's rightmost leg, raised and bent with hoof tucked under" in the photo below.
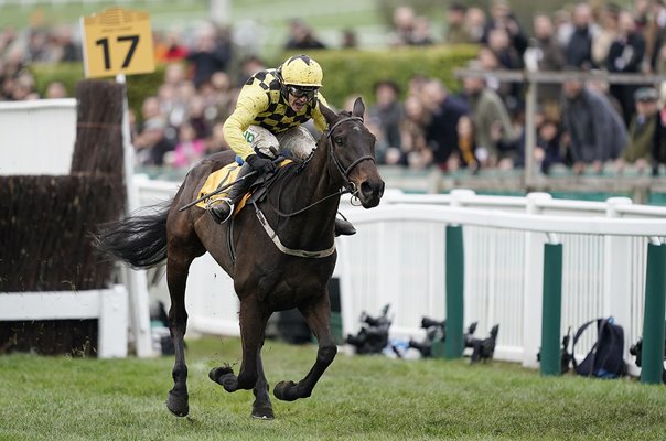
{"type": "Polygon", "coordinates": [[[273,389],[276,398],[284,401],[293,401],[299,398],[310,397],[316,381],[321,378],[326,368],[333,363],[337,346],[331,332],[331,302],[329,293],[324,292],[319,299],[304,306],[299,308],[308,326],[316,336],[319,347],[316,351],[316,361],[302,380],[298,384],[293,381],[280,381],[273,389]]]}

